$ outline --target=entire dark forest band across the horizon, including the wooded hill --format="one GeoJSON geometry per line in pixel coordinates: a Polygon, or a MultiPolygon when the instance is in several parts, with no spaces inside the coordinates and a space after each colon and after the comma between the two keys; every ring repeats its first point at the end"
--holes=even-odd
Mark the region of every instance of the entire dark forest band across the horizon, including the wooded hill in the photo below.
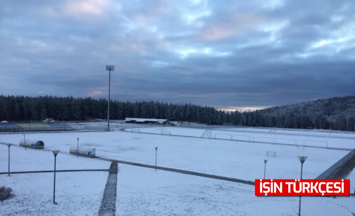
{"type": "MultiPolygon", "coordinates": [[[[0,95],[0,121],[79,121],[107,118],[108,100],[0,95]]],[[[256,111],[224,111],[210,106],[158,101],[110,101],[110,119],[156,118],[250,127],[316,128],[355,131],[355,96],[318,99],[256,111]]]]}

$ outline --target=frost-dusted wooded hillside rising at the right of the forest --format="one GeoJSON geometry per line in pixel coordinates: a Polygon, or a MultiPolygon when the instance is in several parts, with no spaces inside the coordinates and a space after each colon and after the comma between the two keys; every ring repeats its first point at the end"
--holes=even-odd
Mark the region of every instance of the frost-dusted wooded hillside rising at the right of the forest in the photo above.
{"type": "Polygon", "coordinates": [[[265,118],[265,126],[355,131],[355,96],[322,98],[255,112],[265,118]]]}

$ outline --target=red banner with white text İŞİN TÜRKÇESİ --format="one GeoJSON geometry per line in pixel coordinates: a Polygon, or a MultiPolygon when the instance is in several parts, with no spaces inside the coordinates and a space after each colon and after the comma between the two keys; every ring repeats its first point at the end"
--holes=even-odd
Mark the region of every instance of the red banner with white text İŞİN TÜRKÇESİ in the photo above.
{"type": "Polygon", "coordinates": [[[349,179],[255,179],[256,196],[348,196],[349,179]]]}

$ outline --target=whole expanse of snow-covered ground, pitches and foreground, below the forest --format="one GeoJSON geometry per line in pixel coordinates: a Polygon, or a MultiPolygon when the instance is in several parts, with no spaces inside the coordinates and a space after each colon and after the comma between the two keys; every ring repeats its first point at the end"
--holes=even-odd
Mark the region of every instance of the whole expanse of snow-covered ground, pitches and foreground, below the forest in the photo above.
{"type": "MultiPolygon", "coordinates": [[[[197,138],[204,133],[200,129],[155,127],[140,128],[140,131],[26,134],[26,139],[45,143],[45,149],[41,150],[19,147],[22,134],[0,135],[0,142],[13,143],[11,172],[53,170],[51,150],[55,149],[61,151],[57,156],[57,170],[109,169],[110,162],[68,154],[71,146],[76,147],[79,137],[79,146],[96,148],[98,157],[154,165],[154,147],[158,147],[158,166],[252,181],[263,177],[263,159],[269,159],[266,178],[292,179],[300,176],[297,156],[308,156],[303,178],[315,178],[348,153],[262,143],[261,138],[258,138],[260,143],[197,138]],[[160,135],[161,131],[196,138],[160,135]],[[268,151],[276,152],[276,157],[267,157],[268,151]]],[[[227,137],[233,135],[228,131],[214,132],[213,138],[219,136],[218,133],[227,134],[227,137]]],[[[316,141],[321,141],[318,144],[326,141],[332,147],[355,147],[353,139],[317,137],[314,133],[306,136],[244,131],[235,135],[264,137],[265,140],[295,139],[302,144],[310,140],[314,145],[316,141]]],[[[0,172],[7,171],[8,146],[0,144],[0,172]]],[[[57,205],[52,204],[53,172],[11,175],[0,175],[0,186],[12,187],[15,194],[0,202],[0,215],[97,215],[108,171],[57,172],[57,205]]],[[[350,189],[353,189],[355,172],[348,178],[350,189]]],[[[116,215],[296,215],[298,212],[299,197],[256,197],[251,185],[126,164],[119,164],[117,187],[116,215]]],[[[355,212],[354,203],[354,197],[302,197],[301,213],[350,216],[351,211],[355,212]]]]}

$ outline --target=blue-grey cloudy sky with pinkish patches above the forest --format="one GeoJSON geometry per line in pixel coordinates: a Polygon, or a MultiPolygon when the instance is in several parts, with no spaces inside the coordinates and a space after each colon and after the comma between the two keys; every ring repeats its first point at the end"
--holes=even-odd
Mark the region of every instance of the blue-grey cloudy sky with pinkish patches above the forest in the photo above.
{"type": "Polygon", "coordinates": [[[355,94],[353,0],[0,6],[0,94],[257,109],[355,94]]]}

